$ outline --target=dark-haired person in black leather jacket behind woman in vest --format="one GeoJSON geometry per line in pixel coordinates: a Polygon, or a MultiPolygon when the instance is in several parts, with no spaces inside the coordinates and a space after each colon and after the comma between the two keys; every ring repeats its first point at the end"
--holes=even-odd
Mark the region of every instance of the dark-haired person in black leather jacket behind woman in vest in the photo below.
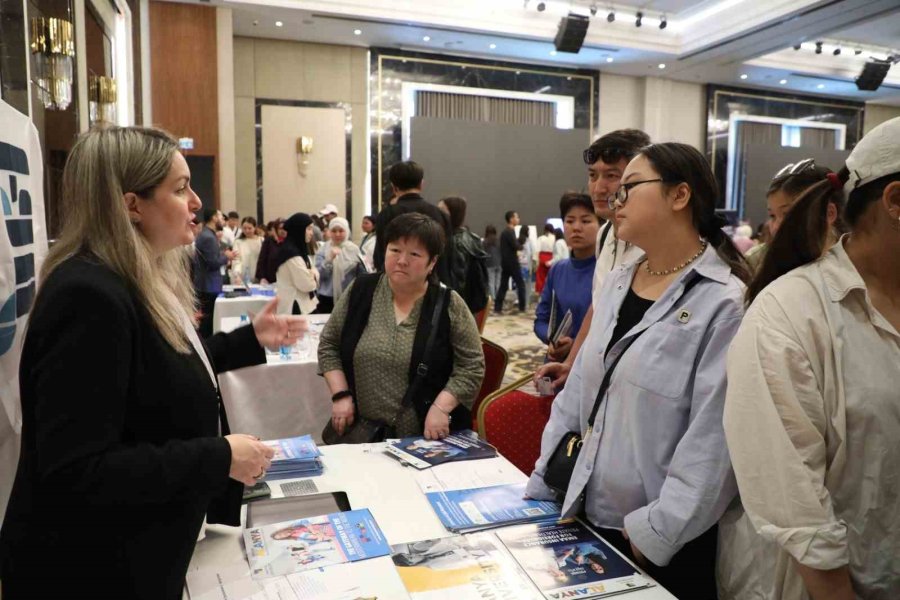
{"type": "Polygon", "coordinates": [[[487,277],[487,253],[478,236],[470,232],[466,223],[466,199],[447,196],[438,202],[438,208],[450,217],[453,237],[448,245],[450,284],[472,314],[487,306],[491,295],[487,277]]]}

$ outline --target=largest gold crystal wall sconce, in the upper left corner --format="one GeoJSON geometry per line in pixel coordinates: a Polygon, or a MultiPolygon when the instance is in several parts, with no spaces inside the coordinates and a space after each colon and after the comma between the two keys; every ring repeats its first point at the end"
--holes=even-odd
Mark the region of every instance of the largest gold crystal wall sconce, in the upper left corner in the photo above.
{"type": "Polygon", "coordinates": [[[32,79],[48,110],[65,110],[72,102],[75,37],[72,23],[55,17],[31,19],[32,79]]]}

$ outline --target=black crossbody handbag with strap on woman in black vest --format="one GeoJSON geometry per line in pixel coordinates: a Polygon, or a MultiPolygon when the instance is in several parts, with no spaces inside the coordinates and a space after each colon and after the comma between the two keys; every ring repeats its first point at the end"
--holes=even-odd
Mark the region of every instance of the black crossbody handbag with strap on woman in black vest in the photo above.
{"type": "Polygon", "coordinates": [[[416,368],[416,375],[409,384],[409,387],[406,388],[406,393],[403,395],[403,400],[400,402],[400,410],[397,411],[397,414],[394,415],[391,422],[382,423],[381,421],[376,421],[374,419],[360,417],[359,411],[357,410],[353,419],[353,425],[345,428],[344,434],[340,435],[329,419],[328,424],[325,425],[325,429],[322,430],[322,441],[325,442],[326,445],[371,444],[396,437],[397,419],[399,419],[403,411],[412,404],[413,399],[418,394],[419,388],[422,386],[422,382],[425,381],[425,375],[428,374],[427,363],[431,358],[431,349],[434,347],[434,340],[437,337],[441,313],[444,310],[444,305],[447,303],[447,298],[449,296],[450,290],[448,288],[442,288],[441,293],[438,294],[437,302],[434,303],[434,312],[431,315],[431,328],[428,331],[428,339],[425,341],[425,352],[422,354],[422,362],[420,362],[416,368]]]}

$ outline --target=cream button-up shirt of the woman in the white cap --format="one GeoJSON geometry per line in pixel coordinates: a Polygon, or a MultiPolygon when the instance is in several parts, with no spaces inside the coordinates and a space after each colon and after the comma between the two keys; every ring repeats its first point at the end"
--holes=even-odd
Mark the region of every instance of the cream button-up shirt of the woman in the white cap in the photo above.
{"type": "Polygon", "coordinates": [[[753,527],[720,543],[722,597],[805,600],[797,560],[900,598],[900,334],[843,241],[769,285],[729,351],[725,432],[753,527]]]}

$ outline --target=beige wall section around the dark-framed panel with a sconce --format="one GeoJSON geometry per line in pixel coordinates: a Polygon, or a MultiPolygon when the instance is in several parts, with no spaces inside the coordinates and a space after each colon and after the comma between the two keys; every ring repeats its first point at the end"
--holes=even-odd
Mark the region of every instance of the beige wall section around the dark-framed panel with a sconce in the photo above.
{"type": "MultiPolygon", "coordinates": [[[[351,107],[353,124],[351,226],[354,238],[358,239],[359,222],[368,211],[370,197],[366,185],[368,51],[349,46],[235,37],[233,53],[237,211],[241,215],[256,214],[256,98],[346,102],[351,107]]],[[[307,202],[301,201],[304,205],[307,202]]],[[[342,209],[345,204],[343,195],[313,202],[318,208],[327,203],[342,209]]],[[[341,215],[346,216],[344,210],[341,215]]],[[[268,214],[266,217],[271,218],[268,214]]]]}

